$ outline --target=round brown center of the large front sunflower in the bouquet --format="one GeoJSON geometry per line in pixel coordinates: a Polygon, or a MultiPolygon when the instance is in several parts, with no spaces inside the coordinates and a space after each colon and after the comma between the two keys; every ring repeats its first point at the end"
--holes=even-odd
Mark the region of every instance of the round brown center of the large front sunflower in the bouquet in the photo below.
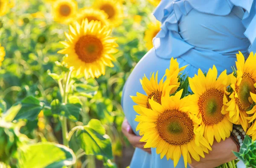
{"type": "Polygon", "coordinates": [[[166,110],[159,115],[156,129],[164,141],[175,146],[189,143],[194,137],[193,121],[177,109],[166,110]]]}

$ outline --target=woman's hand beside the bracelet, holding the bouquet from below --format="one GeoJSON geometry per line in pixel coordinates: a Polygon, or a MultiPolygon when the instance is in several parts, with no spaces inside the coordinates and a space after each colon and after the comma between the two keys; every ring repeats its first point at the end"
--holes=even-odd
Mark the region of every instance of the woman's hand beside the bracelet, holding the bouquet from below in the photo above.
{"type": "Polygon", "coordinates": [[[233,142],[231,137],[226,140],[221,140],[220,143],[213,142],[212,151],[209,154],[205,154],[205,158],[200,158],[200,162],[192,159],[192,164],[189,164],[190,168],[215,168],[223,163],[230,162],[236,159],[236,156],[232,151],[237,151],[238,148],[233,142]]]}

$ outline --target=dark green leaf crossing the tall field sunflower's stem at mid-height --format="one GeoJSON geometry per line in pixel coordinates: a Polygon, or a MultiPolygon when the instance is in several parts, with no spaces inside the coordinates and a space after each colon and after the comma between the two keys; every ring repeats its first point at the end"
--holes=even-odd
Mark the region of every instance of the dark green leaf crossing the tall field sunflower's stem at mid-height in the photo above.
{"type": "Polygon", "coordinates": [[[58,99],[55,99],[51,103],[52,114],[61,115],[67,117],[70,120],[77,121],[81,112],[81,104],[64,104],[60,103],[58,99]]]}

